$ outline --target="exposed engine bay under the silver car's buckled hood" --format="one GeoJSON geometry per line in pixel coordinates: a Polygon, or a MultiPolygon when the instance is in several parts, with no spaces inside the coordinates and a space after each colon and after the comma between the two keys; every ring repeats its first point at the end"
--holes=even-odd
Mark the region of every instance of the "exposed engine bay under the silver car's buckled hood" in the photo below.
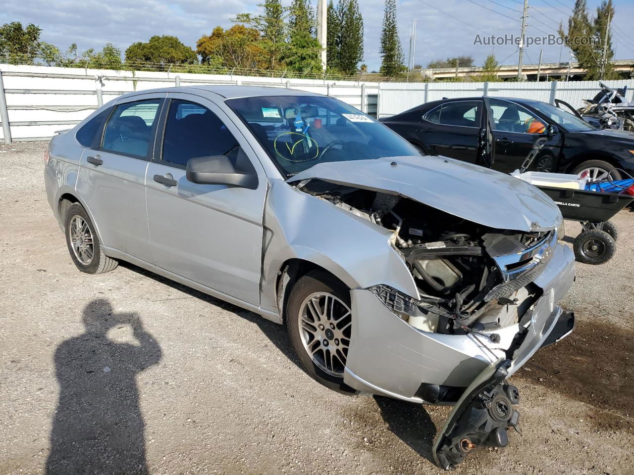
{"type": "Polygon", "coordinates": [[[398,194],[313,179],[302,191],[393,231],[391,245],[415,279],[420,300],[384,286],[372,291],[422,331],[476,333],[497,341],[541,296],[531,284],[550,258],[556,232],[519,232],[475,224],[398,194]]]}

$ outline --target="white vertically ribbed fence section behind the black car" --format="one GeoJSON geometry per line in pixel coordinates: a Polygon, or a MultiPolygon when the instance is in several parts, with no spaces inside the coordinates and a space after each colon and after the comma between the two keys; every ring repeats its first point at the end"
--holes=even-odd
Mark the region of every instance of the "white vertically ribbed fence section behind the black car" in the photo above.
{"type": "MultiPolygon", "coordinates": [[[[628,87],[629,101],[634,101],[634,80],[605,81],[609,87],[628,87]]],[[[378,117],[389,117],[422,103],[443,98],[493,96],[536,99],[553,104],[562,99],[574,108],[583,99],[592,99],[600,91],[598,81],[552,82],[425,82],[380,84],[378,117]]]]}

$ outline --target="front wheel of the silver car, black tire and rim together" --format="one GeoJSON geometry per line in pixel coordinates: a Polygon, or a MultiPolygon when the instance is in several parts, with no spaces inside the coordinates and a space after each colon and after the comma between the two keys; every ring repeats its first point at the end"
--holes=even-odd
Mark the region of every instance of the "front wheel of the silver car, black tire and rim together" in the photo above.
{"type": "Polygon", "coordinates": [[[349,289],[326,272],[309,272],[290,291],[286,323],[304,371],[330,389],[349,391],[344,384],[352,332],[349,289]]]}

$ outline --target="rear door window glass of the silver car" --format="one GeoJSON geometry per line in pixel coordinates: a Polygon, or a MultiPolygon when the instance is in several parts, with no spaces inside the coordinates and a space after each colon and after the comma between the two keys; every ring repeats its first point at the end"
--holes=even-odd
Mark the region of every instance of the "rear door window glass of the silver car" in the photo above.
{"type": "Polygon", "coordinates": [[[162,99],[120,104],[112,113],[103,134],[102,148],[135,158],[147,158],[162,99]]]}

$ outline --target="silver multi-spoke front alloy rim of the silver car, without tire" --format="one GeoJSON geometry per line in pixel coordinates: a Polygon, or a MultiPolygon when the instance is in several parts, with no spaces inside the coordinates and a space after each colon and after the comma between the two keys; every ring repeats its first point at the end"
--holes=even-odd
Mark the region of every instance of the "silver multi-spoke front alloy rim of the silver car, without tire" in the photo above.
{"type": "Polygon", "coordinates": [[[313,363],[327,374],[343,376],[352,330],[350,308],[331,293],[317,292],[304,299],[297,318],[304,350],[313,363]]]}

